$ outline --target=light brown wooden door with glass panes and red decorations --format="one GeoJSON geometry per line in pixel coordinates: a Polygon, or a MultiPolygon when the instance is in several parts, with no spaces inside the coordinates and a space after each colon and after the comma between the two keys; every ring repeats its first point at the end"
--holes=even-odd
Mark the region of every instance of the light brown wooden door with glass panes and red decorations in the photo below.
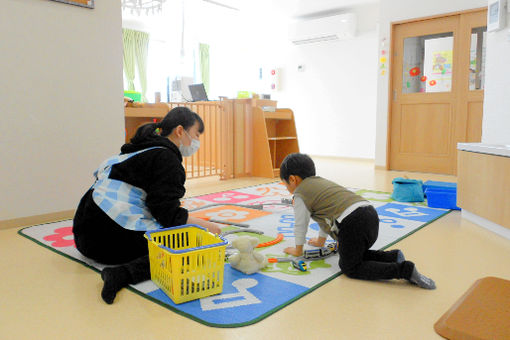
{"type": "Polygon", "coordinates": [[[457,143],[480,140],[484,20],[478,10],[393,25],[390,169],[455,174],[457,143]]]}

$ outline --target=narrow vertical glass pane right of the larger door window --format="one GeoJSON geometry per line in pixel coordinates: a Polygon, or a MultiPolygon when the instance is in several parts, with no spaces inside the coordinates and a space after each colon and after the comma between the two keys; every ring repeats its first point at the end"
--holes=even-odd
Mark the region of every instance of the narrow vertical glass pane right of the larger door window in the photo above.
{"type": "Polygon", "coordinates": [[[471,48],[469,58],[469,89],[483,90],[485,78],[485,47],[487,27],[471,30],[471,48]]]}

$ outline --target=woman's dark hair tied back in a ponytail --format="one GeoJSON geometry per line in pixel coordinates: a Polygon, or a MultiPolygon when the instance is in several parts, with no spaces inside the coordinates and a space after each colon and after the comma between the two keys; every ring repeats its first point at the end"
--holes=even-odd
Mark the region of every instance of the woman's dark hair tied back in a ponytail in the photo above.
{"type": "Polygon", "coordinates": [[[159,123],[148,123],[140,126],[136,130],[136,134],[131,138],[131,143],[138,144],[155,138],[157,136],[156,129],[161,130],[160,136],[167,137],[179,125],[182,125],[184,130],[188,130],[195,122],[198,122],[199,125],[198,132],[203,133],[204,122],[198,114],[184,106],[175,107],[159,123]]]}

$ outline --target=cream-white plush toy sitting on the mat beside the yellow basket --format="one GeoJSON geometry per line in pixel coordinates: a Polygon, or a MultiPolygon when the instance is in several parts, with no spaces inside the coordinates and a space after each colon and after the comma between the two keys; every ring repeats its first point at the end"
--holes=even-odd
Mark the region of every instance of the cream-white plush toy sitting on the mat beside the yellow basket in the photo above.
{"type": "Polygon", "coordinates": [[[259,240],[252,236],[239,236],[232,241],[232,246],[239,250],[228,258],[232,268],[245,274],[253,274],[264,268],[267,265],[266,257],[253,251],[257,244],[259,240]]]}

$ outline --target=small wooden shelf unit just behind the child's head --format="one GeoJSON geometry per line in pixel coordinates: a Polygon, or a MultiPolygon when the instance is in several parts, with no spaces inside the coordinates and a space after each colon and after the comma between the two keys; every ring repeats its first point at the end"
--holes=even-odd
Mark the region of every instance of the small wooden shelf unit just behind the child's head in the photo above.
{"type": "Polygon", "coordinates": [[[299,152],[294,113],[290,109],[274,112],[253,108],[252,175],[278,177],[280,164],[290,153],[299,152]]]}

